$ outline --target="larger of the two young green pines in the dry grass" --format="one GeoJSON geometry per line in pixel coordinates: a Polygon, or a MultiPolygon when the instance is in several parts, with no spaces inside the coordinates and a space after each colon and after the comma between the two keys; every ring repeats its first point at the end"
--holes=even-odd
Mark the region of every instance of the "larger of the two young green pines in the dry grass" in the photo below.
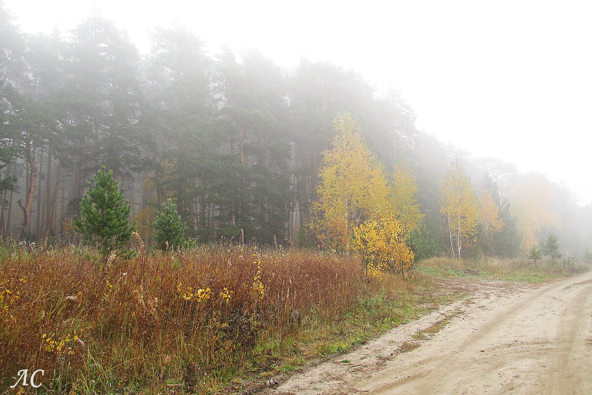
{"type": "Polygon", "coordinates": [[[73,218],[76,232],[82,243],[98,248],[105,258],[112,252],[121,252],[136,232],[136,223],[130,225],[130,204],[117,190],[113,172],[105,166],[95,174],[94,187],[88,183],[88,191],[81,201],[81,218],[73,218]]]}

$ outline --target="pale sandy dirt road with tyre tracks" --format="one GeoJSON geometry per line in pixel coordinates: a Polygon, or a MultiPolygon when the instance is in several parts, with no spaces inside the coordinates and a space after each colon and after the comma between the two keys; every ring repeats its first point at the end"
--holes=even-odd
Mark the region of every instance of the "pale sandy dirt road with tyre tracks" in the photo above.
{"type": "Polygon", "coordinates": [[[592,273],[481,282],[474,297],[266,393],[592,394],[592,273]]]}

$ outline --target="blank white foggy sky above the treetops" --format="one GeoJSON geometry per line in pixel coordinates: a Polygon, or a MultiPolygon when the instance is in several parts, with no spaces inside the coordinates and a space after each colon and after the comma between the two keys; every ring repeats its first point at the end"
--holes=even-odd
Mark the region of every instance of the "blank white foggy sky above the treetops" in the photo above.
{"type": "Polygon", "coordinates": [[[475,156],[516,163],[592,201],[592,5],[587,2],[5,0],[26,33],[70,30],[93,8],[141,53],[149,31],[187,25],[211,52],[301,56],[398,89],[417,127],[475,156]],[[164,8],[166,5],[167,8],[164,8]]]}

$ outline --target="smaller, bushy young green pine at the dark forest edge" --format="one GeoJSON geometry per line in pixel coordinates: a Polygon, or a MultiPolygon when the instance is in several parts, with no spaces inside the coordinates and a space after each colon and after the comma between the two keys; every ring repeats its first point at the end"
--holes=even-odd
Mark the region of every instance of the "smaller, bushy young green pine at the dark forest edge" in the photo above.
{"type": "Polygon", "coordinates": [[[162,250],[181,249],[188,246],[185,240],[187,227],[181,220],[177,205],[168,199],[162,205],[162,211],[156,214],[156,221],[152,225],[155,230],[156,246],[162,250]]]}

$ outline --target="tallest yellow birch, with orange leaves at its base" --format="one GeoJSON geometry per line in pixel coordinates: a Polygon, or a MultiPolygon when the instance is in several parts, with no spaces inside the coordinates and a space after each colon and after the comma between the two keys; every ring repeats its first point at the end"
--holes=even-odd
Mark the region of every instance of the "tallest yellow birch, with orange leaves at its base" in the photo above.
{"type": "Polygon", "coordinates": [[[343,251],[353,229],[387,205],[390,187],[382,165],[362,141],[356,118],[343,113],[333,123],[336,136],[332,149],[323,153],[309,226],[325,248],[343,251]]]}

